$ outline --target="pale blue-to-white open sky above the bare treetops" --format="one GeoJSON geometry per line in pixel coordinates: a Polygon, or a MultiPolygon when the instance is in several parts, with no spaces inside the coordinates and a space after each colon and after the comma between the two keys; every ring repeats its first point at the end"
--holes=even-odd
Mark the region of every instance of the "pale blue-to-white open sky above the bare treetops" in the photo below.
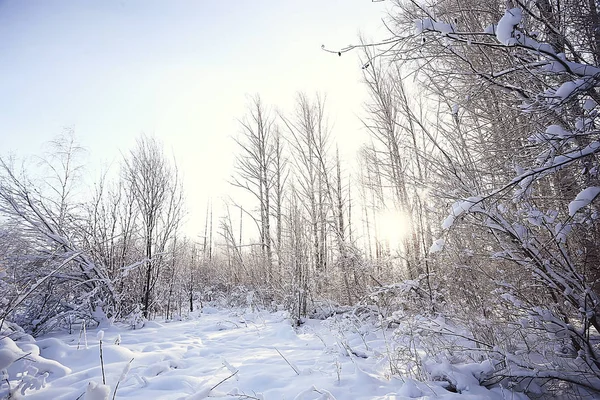
{"type": "Polygon", "coordinates": [[[290,109],[297,91],[327,95],[340,150],[365,140],[358,52],[382,38],[387,2],[371,0],[0,0],[0,155],[40,154],[72,127],[90,174],[117,166],[144,132],[185,175],[186,231],[206,201],[231,193],[247,96],[290,109]]]}

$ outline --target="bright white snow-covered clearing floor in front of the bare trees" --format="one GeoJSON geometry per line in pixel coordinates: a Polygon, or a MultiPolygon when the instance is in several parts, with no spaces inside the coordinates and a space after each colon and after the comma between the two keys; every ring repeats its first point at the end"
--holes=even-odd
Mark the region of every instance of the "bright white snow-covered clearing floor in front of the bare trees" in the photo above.
{"type": "MultiPolygon", "coordinates": [[[[8,368],[12,387],[20,380],[16,371],[27,369],[28,363],[38,376],[48,371],[43,388],[25,392],[32,400],[103,399],[103,389],[112,399],[119,380],[116,398],[131,400],[525,398],[479,386],[476,376],[486,369],[485,363],[430,366],[459,393],[444,389],[444,381],[390,378],[381,331],[340,332],[334,325],[311,320],[294,329],[283,312],[205,308],[188,321],[148,322],[139,330],[112,326],[100,335],[88,331],[87,346],[74,332],[19,344],[20,349],[3,339],[0,352],[31,352],[8,368]],[[102,386],[94,389],[102,382],[100,337],[110,392],[102,386]],[[36,357],[37,349],[41,357],[36,357]]],[[[6,394],[4,381],[0,397],[6,394]]]]}

